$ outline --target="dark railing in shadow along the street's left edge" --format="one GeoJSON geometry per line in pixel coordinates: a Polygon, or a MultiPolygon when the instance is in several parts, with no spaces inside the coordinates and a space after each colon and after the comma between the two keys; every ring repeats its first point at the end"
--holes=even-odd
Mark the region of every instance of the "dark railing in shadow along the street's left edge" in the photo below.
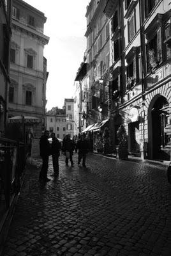
{"type": "Polygon", "coordinates": [[[0,138],[0,220],[20,190],[26,164],[24,143],[0,138]]]}

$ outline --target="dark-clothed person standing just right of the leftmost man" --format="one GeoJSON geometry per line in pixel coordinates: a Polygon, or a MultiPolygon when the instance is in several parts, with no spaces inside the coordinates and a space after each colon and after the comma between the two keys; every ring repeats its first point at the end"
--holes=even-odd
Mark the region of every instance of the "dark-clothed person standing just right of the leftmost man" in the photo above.
{"type": "Polygon", "coordinates": [[[59,156],[60,156],[60,150],[61,150],[61,142],[57,140],[55,132],[52,132],[50,136],[52,138],[51,153],[52,153],[54,175],[55,177],[57,177],[59,175],[59,156]]]}

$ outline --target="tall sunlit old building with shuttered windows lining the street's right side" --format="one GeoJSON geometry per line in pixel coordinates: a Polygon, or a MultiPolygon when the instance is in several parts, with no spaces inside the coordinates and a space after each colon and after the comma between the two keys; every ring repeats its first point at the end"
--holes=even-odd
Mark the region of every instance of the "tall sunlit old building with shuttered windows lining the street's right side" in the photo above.
{"type": "Polygon", "coordinates": [[[114,151],[117,130],[124,124],[130,154],[170,159],[170,8],[170,1],[161,0],[94,0],[87,7],[88,107],[93,111],[90,124],[99,121],[96,109],[100,105],[99,117],[108,118],[114,151]],[[100,34],[98,29],[94,33],[94,28],[100,28],[98,17],[103,24],[99,33],[103,35],[106,28],[108,40],[103,45],[102,36],[102,49],[96,52],[100,34]],[[101,64],[100,74],[98,65],[104,57],[106,66],[101,64]]]}

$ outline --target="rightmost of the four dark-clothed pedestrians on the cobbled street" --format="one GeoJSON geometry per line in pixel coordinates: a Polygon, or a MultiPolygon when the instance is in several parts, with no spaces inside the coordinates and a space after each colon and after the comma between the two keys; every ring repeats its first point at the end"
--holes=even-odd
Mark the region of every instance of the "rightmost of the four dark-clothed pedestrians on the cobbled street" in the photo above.
{"type": "Polygon", "coordinates": [[[82,159],[82,166],[85,166],[86,154],[89,151],[89,143],[85,140],[84,135],[80,134],[80,140],[78,140],[76,145],[76,150],[78,150],[78,164],[82,159]]]}

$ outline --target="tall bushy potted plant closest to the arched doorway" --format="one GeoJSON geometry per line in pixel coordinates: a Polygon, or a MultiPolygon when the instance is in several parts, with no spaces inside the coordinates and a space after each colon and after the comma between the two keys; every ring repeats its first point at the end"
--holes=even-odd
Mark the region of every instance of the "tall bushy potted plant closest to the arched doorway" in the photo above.
{"type": "Polygon", "coordinates": [[[117,156],[119,159],[128,159],[128,136],[123,124],[120,125],[117,131],[117,140],[119,142],[117,156]]]}

